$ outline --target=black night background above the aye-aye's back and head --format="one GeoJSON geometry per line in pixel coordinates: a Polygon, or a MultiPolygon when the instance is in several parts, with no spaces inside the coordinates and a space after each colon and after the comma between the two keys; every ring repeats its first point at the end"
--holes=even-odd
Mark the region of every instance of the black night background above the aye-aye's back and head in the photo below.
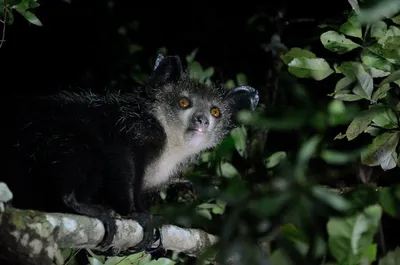
{"type": "Polygon", "coordinates": [[[217,78],[234,78],[244,72],[253,86],[261,86],[270,66],[269,55],[261,48],[277,28],[273,17],[285,11],[285,20],[311,19],[291,23],[281,32],[288,46],[304,46],[315,39],[317,25],[343,16],[347,0],[207,2],[182,1],[39,1],[34,13],[42,27],[29,24],[15,14],[6,29],[6,43],[0,49],[3,93],[51,93],[65,86],[96,90],[111,80],[128,89],[135,82],[121,73],[130,65],[150,72],[157,50],[184,57],[199,48],[196,59],[204,67],[213,66],[217,78]],[[248,21],[261,15],[256,23],[248,21]],[[137,30],[129,25],[138,25],[137,30]],[[128,27],[127,35],[118,33],[128,27]],[[314,38],[314,39],[312,39],[314,38]],[[143,50],[134,58],[129,42],[143,50]]]}

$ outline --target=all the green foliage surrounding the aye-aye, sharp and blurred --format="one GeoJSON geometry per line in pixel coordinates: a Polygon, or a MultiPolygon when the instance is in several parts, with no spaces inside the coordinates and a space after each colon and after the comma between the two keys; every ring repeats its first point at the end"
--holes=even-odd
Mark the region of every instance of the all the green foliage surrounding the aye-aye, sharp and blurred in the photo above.
{"type": "MultiPolygon", "coordinates": [[[[26,14],[33,3],[7,8],[26,14]]],[[[242,264],[399,263],[400,249],[392,244],[388,251],[381,231],[383,218],[400,218],[399,185],[377,187],[368,172],[400,167],[400,6],[397,0],[349,0],[350,7],[347,20],[321,27],[316,46],[285,50],[272,38],[265,51],[279,54],[277,64],[286,68],[269,72],[266,83],[275,85],[259,89],[275,89],[275,101],[262,98],[253,115],[239,113],[241,126],[185,172],[195,195],[173,190],[172,200],[171,190],[160,193],[161,207],[154,210],[170,223],[220,237],[217,260],[238,255],[242,264]],[[357,185],[343,187],[348,175],[359,176],[357,185]]],[[[134,30],[118,31],[129,43],[129,67],[120,79],[141,84],[146,66],[135,59],[143,47],[127,33],[134,30]]],[[[186,56],[189,74],[211,83],[219,70],[197,60],[198,52],[186,56]]],[[[236,73],[223,86],[251,83],[236,73]]],[[[206,254],[198,264],[214,262],[206,254]]],[[[107,265],[186,262],[179,253],[158,260],[143,253],[90,257],[90,264],[107,265]]]]}

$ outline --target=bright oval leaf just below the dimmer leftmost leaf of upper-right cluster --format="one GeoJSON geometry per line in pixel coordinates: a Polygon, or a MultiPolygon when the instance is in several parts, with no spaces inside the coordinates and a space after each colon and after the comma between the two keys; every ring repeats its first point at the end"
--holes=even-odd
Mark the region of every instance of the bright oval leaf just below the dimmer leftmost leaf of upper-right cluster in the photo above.
{"type": "Polygon", "coordinates": [[[294,58],[289,63],[289,72],[300,78],[313,78],[317,81],[334,73],[325,59],[305,57],[294,58]]]}

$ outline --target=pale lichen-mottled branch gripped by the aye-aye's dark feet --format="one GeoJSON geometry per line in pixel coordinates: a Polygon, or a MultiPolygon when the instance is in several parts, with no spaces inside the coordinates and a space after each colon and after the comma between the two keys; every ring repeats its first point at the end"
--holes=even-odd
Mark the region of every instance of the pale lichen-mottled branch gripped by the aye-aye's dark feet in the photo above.
{"type": "MultiPolygon", "coordinates": [[[[143,228],[136,221],[116,219],[116,225],[117,233],[111,244],[114,248],[125,250],[142,240],[143,228]]],[[[103,223],[95,218],[3,207],[0,260],[13,261],[12,264],[64,264],[60,248],[101,250],[97,245],[104,232],[103,223]]],[[[189,256],[198,256],[218,240],[202,230],[174,225],[162,226],[161,235],[165,249],[189,256]]]]}

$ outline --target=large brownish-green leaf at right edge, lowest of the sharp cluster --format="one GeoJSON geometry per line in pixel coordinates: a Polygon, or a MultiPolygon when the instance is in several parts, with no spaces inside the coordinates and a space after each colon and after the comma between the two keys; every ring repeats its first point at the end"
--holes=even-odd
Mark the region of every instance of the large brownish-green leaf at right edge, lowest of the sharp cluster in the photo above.
{"type": "Polygon", "coordinates": [[[396,151],[400,132],[385,132],[373,139],[367,150],[361,155],[361,162],[367,166],[381,166],[388,163],[396,151]]]}

